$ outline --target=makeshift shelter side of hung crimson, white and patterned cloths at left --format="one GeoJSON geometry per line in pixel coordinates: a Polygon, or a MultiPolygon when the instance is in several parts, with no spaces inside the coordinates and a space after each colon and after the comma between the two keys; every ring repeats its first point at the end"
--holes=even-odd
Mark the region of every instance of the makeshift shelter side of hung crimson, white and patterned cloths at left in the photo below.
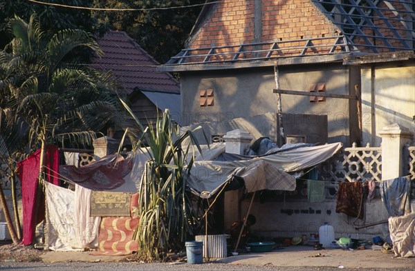
{"type": "Polygon", "coordinates": [[[138,244],[131,237],[138,224],[138,181],[147,161],[145,152],[127,158],[111,154],[80,168],[62,165],[59,173],[57,164],[50,166],[57,162],[57,148],[51,146],[49,152],[46,174],[55,179],[42,183],[44,198],[38,197],[42,195],[37,184],[39,154],[35,152],[19,164],[23,198],[28,199],[23,202],[22,243],[34,242],[36,224],[45,219],[46,249],[98,248],[97,254],[136,251],[138,244]]]}

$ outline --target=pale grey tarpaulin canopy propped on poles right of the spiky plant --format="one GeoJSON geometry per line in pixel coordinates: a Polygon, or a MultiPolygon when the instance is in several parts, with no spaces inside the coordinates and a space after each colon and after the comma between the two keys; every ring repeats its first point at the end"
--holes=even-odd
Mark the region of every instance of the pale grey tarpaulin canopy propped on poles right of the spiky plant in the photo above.
{"type": "Polygon", "coordinates": [[[342,143],[299,147],[241,161],[196,161],[187,185],[200,197],[209,198],[234,176],[246,175],[244,181],[254,190],[295,190],[296,172],[322,163],[342,148],[342,143]]]}

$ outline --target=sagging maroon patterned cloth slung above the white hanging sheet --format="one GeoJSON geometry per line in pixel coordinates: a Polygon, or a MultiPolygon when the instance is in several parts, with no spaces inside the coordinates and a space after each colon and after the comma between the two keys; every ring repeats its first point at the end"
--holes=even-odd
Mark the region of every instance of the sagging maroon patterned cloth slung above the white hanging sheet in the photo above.
{"type": "Polygon", "coordinates": [[[102,159],[76,168],[64,165],[59,173],[62,176],[91,190],[113,190],[122,185],[124,177],[132,170],[133,159],[110,154],[102,159]]]}

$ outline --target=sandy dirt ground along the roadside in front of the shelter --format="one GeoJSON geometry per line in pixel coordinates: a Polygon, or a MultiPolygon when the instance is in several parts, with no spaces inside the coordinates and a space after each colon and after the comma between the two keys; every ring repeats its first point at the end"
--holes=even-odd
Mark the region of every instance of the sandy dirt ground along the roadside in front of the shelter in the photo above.
{"type": "MultiPolygon", "coordinates": [[[[94,256],[91,252],[53,252],[32,247],[0,243],[0,262],[120,262],[136,261],[129,256],[94,256]]],[[[176,259],[185,261],[185,258],[176,259]]],[[[274,265],[274,266],[321,266],[335,268],[415,268],[415,258],[395,258],[394,254],[380,250],[313,250],[306,245],[291,245],[272,252],[239,254],[224,259],[221,263],[274,265]]]]}

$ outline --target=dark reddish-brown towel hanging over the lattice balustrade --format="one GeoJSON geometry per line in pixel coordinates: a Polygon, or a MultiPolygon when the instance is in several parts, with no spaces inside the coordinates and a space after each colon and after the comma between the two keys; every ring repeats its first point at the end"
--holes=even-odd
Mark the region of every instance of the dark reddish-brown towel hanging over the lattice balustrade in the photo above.
{"type": "Polygon", "coordinates": [[[363,219],[363,185],[360,182],[339,183],[335,212],[363,219]]]}

